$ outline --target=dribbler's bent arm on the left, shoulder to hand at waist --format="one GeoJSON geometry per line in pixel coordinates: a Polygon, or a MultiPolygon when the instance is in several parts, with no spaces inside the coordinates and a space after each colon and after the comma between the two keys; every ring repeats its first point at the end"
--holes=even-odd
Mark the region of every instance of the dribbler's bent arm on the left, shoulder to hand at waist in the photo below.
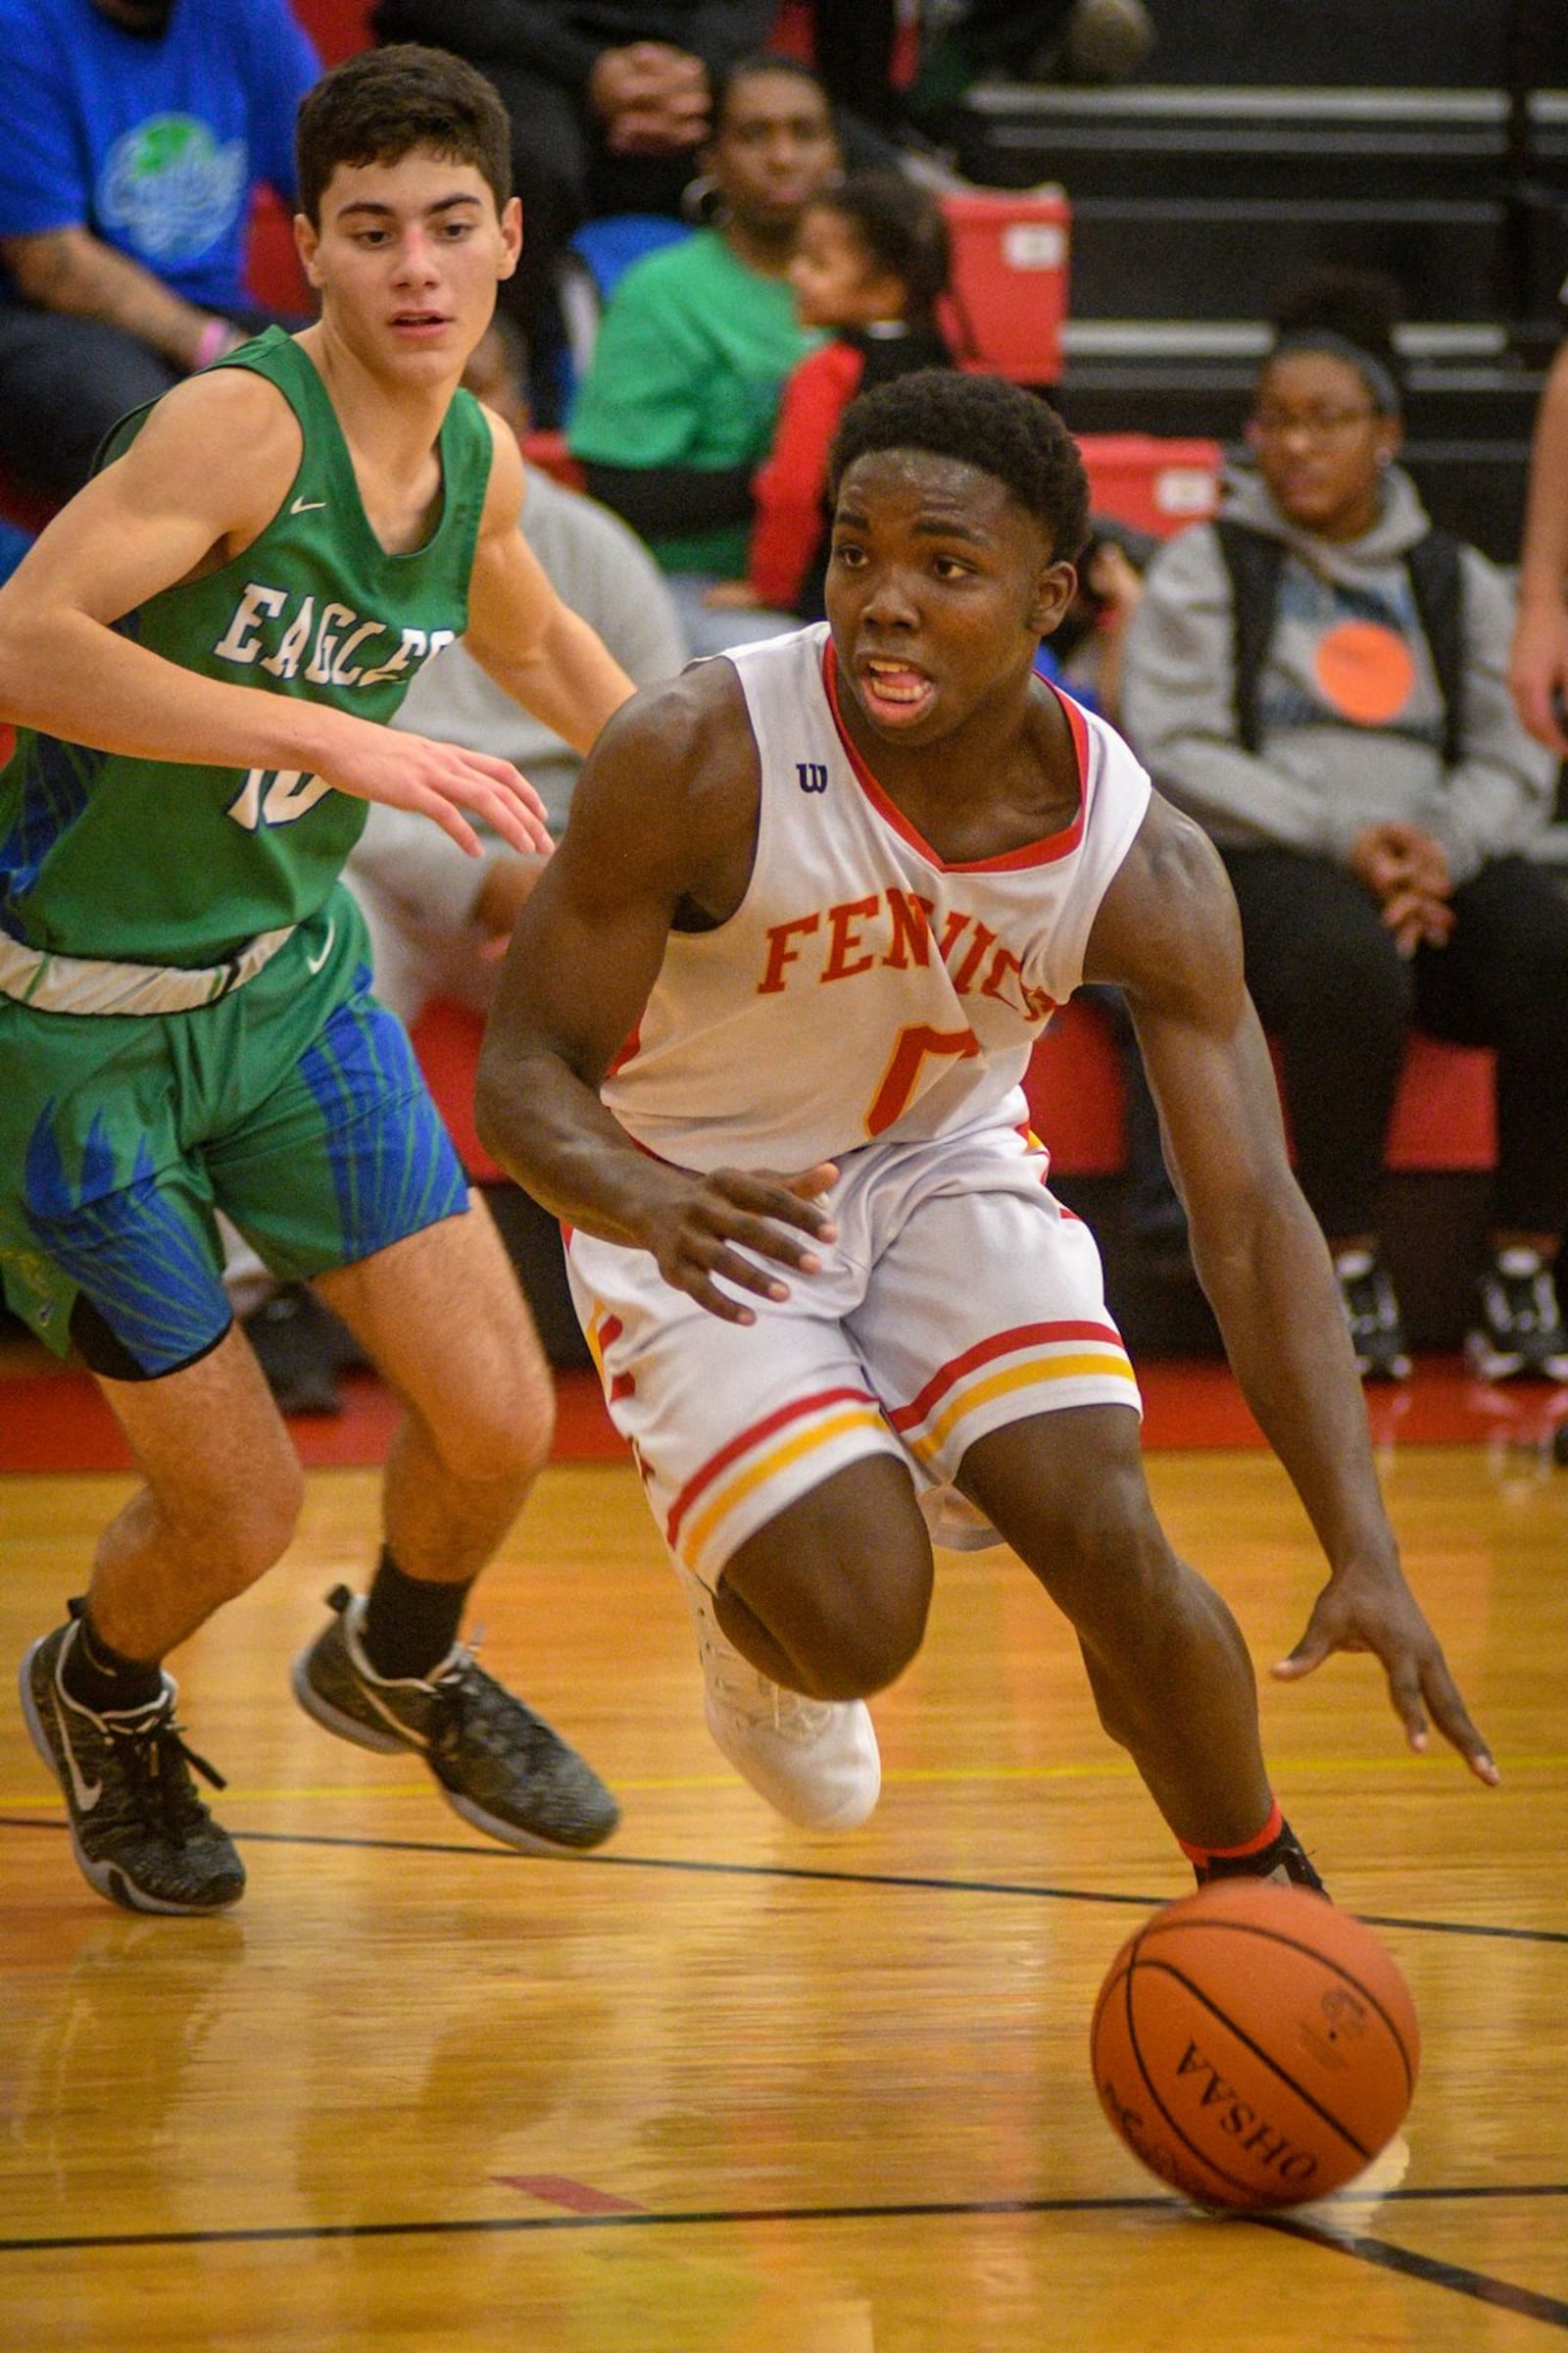
{"type": "Polygon", "coordinates": [[[599,1101],[675,922],[741,904],[757,828],[757,751],[729,664],[646,687],[583,769],[567,838],[522,911],[480,1056],[480,1136],[548,1209],[661,1273],[726,1322],[780,1299],[832,1240],[832,1167],[672,1167],[599,1101]],[[762,1264],[759,1264],[762,1261],[762,1264]]]}

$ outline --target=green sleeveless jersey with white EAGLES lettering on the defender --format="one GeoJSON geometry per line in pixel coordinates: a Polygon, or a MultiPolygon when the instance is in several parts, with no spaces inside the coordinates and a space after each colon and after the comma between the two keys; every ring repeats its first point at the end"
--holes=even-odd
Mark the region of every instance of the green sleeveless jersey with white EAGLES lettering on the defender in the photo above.
{"type": "MultiPolygon", "coordinates": [[[[390,720],[423,661],[468,626],[491,464],[480,405],[456,393],[447,409],[435,532],[388,555],[301,346],[268,327],[219,365],[284,395],[303,433],[299,473],[242,555],[115,626],[181,671],[390,720]]],[[[146,414],[115,428],[106,459],[146,414]]],[[[308,772],[134,760],[26,729],[0,772],[0,927],[54,955],[223,962],[315,913],[362,824],[362,800],[308,772]]]]}

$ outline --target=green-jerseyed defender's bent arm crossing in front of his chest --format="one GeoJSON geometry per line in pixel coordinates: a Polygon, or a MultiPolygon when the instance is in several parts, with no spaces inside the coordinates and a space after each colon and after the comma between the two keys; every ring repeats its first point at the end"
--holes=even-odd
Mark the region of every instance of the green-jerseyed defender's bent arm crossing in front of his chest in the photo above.
{"type": "Polygon", "coordinates": [[[517,849],[548,849],[538,795],[508,760],[197,678],[115,631],[150,595],[247,548],[287,496],[299,454],[294,412],[244,369],[193,376],[160,400],[0,588],[0,713],[146,760],[301,769],[418,809],[473,854],[470,816],[517,849]]]}

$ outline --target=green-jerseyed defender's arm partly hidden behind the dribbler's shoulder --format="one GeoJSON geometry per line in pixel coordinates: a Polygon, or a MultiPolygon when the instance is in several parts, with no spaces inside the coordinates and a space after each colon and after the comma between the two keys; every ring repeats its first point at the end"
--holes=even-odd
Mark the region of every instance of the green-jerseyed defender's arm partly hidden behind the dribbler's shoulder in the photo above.
{"type": "Polygon", "coordinates": [[[562,605],[520,529],[524,473],[517,442],[498,416],[484,520],[468,588],[463,645],[503,694],[590,751],[599,727],[632,692],[632,680],[581,614],[562,605]]]}

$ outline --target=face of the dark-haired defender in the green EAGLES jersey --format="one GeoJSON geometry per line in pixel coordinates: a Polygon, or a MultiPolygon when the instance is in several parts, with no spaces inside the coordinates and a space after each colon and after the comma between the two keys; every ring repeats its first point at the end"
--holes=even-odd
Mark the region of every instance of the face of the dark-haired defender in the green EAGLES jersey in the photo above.
{"type": "Polygon", "coordinates": [[[496,214],[482,172],[416,148],[397,162],[339,165],[322,226],[296,221],[322,315],[371,367],[444,379],[463,369],[517,268],[520,209],[496,214]]]}

